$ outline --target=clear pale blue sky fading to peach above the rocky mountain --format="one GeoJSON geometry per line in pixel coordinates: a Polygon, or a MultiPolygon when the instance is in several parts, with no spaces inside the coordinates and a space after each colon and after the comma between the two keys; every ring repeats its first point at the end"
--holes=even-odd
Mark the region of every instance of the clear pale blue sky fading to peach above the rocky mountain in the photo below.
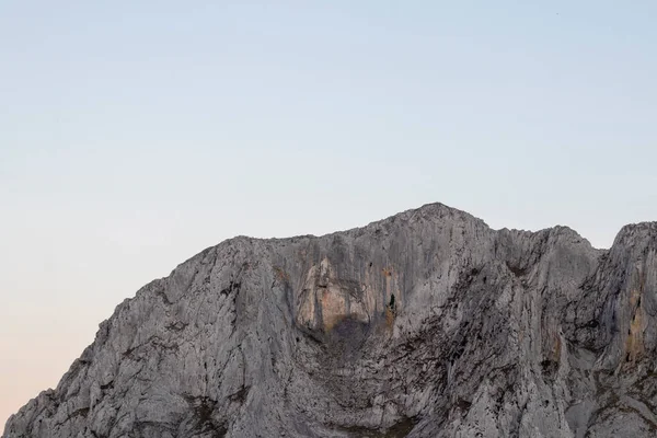
{"type": "Polygon", "coordinates": [[[431,201],[602,247],[657,220],[656,22],[653,0],[0,2],[0,423],[237,234],[431,201]]]}

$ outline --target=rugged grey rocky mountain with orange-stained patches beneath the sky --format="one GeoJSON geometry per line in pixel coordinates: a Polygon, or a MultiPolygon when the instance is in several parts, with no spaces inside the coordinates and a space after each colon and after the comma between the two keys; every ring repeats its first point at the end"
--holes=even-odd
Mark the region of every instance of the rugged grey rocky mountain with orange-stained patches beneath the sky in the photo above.
{"type": "Polygon", "coordinates": [[[203,251],[3,437],[655,437],[656,348],[657,223],[596,250],[434,204],[203,251]]]}

